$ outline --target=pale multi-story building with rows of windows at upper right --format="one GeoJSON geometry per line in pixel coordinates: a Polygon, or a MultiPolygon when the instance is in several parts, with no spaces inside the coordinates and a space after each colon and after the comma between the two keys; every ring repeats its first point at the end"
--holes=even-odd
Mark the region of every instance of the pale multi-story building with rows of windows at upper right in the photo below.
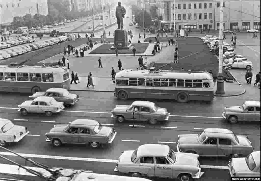
{"type": "MultiPolygon", "coordinates": [[[[160,4],[158,2],[158,4],[160,4]]],[[[219,29],[220,1],[173,1],[162,0],[158,13],[162,15],[162,26],[170,28],[219,29]]],[[[228,0],[224,1],[224,29],[260,29],[260,0],[228,0]]]]}

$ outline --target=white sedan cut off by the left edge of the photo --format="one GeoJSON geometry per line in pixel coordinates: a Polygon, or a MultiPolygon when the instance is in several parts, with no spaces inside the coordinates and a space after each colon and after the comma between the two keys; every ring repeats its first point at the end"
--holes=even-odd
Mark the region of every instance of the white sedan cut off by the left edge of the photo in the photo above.
{"type": "Polygon", "coordinates": [[[10,120],[0,118],[0,146],[18,142],[30,133],[26,127],[14,125],[10,120]]]}

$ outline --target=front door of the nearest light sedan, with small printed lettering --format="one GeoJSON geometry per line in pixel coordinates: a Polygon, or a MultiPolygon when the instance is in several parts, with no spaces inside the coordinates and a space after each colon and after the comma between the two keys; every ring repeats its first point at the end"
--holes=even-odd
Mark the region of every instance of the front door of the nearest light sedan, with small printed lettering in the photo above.
{"type": "Polygon", "coordinates": [[[172,178],[172,167],[165,157],[155,157],[155,177],[172,178]]]}

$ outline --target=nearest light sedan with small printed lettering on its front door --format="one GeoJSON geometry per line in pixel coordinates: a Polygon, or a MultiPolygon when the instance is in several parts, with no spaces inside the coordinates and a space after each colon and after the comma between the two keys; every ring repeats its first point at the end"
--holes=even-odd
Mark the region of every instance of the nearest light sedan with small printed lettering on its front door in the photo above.
{"type": "Polygon", "coordinates": [[[114,169],[115,172],[132,177],[149,176],[192,180],[200,178],[197,154],[174,152],[168,145],[145,144],[135,150],[123,151],[114,169]]]}

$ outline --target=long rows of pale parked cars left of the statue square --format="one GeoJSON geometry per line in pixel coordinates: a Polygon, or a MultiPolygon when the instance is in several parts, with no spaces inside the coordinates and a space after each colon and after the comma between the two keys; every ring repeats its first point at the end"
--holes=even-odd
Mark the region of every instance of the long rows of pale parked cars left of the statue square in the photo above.
{"type": "Polygon", "coordinates": [[[46,46],[54,45],[59,41],[66,41],[67,36],[58,36],[48,40],[34,42],[35,39],[30,37],[21,37],[19,39],[12,39],[0,42],[2,49],[0,50],[0,60],[8,59],[20,54],[37,50],[46,46]],[[19,44],[20,43],[20,44],[19,44]],[[26,44],[25,44],[26,43],[26,44]]]}

